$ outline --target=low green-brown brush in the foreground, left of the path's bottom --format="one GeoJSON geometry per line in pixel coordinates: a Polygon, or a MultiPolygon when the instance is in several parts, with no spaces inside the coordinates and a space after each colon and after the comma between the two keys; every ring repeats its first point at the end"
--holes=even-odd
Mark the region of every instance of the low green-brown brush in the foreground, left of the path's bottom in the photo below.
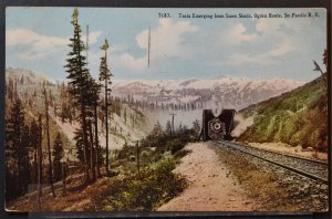
{"type": "Polygon", "coordinates": [[[121,178],[100,180],[98,192],[92,197],[87,210],[93,211],[151,211],[180,194],[187,181],[173,174],[175,160],[160,159],[154,168],[121,178]]]}

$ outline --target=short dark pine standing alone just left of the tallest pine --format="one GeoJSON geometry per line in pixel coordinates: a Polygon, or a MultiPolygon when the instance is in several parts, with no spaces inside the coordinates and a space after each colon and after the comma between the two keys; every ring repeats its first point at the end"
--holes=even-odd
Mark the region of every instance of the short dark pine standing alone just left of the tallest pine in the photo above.
{"type": "Polygon", "coordinates": [[[60,133],[58,133],[53,144],[53,170],[55,181],[59,181],[62,178],[61,159],[63,158],[63,143],[60,133]]]}

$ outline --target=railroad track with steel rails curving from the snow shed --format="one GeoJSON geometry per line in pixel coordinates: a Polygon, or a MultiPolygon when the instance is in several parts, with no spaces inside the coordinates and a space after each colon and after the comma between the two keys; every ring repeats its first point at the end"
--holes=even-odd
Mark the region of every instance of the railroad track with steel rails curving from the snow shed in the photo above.
{"type": "Polygon", "coordinates": [[[298,157],[293,155],[282,154],[272,150],[260,149],[256,147],[251,147],[248,145],[240,145],[232,142],[219,140],[220,146],[226,146],[235,150],[239,150],[243,154],[250,155],[252,157],[262,159],[270,164],[277,165],[284,169],[288,169],[292,173],[301,175],[303,177],[321,181],[325,185],[329,184],[328,180],[328,164],[308,159],[303,157],[298,157]]]}

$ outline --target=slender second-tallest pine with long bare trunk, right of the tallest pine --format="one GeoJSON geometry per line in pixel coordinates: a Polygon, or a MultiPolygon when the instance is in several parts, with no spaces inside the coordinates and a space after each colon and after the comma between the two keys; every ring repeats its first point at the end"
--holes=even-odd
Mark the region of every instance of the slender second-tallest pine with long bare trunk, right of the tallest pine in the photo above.
{"type": "Polygon", "coordinates": [[[110,174],[110,157],[108,157],[108,105],[111,105],[111,103],[108,103],[108,96],[111,95],[111,88],[108,87],[112,82],[111,82],[111,76],[112,73],[108,70],[107,66],[107,50],[108,50],[110,45],[107,40],[105,40],[104,44],[102,45],[102,50],[105,52],[105,55],[103,58],[101,58],[101,66],[100,66],[100,81],[104,82],[104,91],[105,91],[105,125],[106,125],[106,173],[107,175],[110,174]]]}

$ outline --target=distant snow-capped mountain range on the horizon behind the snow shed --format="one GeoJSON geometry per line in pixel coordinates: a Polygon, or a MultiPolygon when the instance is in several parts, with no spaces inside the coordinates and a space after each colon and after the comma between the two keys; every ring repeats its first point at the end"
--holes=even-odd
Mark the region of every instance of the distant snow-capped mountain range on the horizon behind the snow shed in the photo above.
{"type": "Polygon", "coordinates": [[[289,92],[303,82],[222,76],[214,80],[114,80],[115,96],[158,104],[204,103],[208,108],[241,109],[289,92]]]}

